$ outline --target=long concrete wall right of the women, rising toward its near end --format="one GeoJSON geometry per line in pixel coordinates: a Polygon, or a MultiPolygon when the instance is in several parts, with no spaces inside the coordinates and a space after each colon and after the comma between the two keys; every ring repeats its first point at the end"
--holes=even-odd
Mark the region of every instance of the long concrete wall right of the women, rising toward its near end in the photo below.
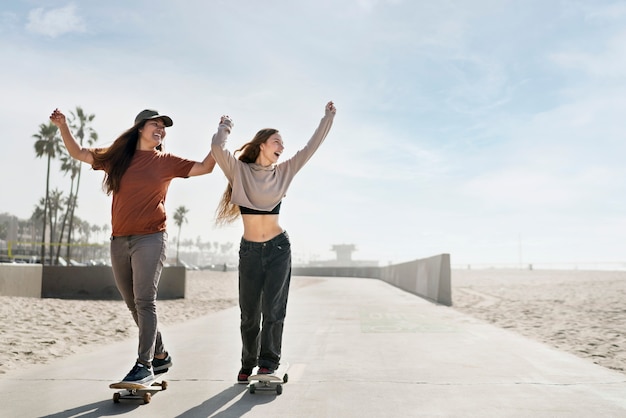
{"type": "Polygon", "coordinates": [[[386,267],[294,267],[292,274],[380,279],[435,303],[452,306],[449,254],[386,267]]]}

